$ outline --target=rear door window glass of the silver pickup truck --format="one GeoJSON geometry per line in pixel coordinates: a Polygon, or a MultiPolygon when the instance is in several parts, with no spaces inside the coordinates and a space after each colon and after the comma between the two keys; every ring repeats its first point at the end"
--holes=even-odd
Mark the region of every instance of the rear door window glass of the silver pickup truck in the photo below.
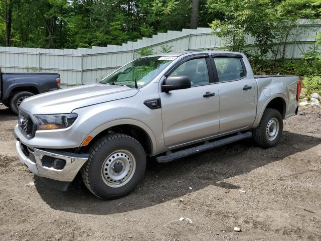
{"type": "Polygon", "coordinates": [[[219,82],[240,79],[245,76],[240,58],[215,57],[219,82]]]}

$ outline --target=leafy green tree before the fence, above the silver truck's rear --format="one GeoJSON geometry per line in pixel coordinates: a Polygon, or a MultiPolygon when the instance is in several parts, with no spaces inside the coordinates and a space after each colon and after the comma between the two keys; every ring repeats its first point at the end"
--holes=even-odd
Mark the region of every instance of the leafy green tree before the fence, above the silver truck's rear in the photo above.
{"type": "MultiPolygon", "coordinates": [[[[251,35],[257,47],[254,56],[260,57],[272,50],[275,39],[287,42],[298,19],[317,16],[310,0],[210,0],[208,8],[220,16],[210,26],[226,39],[227,47],[246,51],[245,37],[251,35]]],[[[285,46],[278,45],[275,56],[281,51],[284,58],[285,46]]]]}

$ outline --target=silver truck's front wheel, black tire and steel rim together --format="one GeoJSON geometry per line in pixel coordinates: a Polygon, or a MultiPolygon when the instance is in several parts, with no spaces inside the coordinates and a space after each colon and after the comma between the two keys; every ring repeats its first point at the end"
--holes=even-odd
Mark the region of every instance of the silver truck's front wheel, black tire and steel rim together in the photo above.
{"type": "Polygon", "coordinates": [[[143,179],[146,155],[142,146],[123,134],[107,135],[94,143],[82,168],[86,187],[102,199],[127,195],[143,179]]]}

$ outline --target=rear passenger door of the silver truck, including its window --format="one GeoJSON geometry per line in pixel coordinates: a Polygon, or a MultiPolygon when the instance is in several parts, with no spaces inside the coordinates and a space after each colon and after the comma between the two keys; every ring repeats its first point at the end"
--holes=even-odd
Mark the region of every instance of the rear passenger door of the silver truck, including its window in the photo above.
{"type": "Polygon", "coordinates": [[[255,79],[242,55],[212,55],[220,95],[220,133],[244,129],[255,119],[255,79]]]}

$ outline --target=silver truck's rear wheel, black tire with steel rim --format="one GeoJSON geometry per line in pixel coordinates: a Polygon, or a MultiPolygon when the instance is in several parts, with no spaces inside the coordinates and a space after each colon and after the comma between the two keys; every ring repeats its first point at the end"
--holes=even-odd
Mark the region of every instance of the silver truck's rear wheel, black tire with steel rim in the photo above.
{"type": "Polygon", "coordinates": [[[283,131],[283,119],[276,109],[265,109],[259,126],[253,130],[256,145],[263,148],[274,147],[283,131]]]}

